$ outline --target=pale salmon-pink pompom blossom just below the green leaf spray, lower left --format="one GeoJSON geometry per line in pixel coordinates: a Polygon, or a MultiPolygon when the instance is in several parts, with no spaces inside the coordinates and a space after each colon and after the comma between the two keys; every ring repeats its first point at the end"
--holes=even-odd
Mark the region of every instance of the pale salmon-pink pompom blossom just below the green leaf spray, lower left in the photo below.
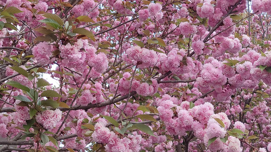
{"type": "Polygon", "coordinates": [[[62,112],[59,109],[45,110],[36,116],[37,123],[41,124],[45,129],[53,129],[62,118],[62,112]]]}

